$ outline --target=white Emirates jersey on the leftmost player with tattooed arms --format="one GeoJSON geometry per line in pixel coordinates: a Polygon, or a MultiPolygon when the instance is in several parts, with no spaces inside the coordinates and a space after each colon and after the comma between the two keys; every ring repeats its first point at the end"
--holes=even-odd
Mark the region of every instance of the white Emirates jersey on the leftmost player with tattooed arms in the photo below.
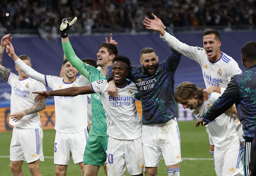
{"type": "MultiPolygon", "coordinates": [[[[15,112],[23,111],[31,108],[35,104],[35,96],[32,92],[34,91],[46,91],[45,86],[37,80],[27,77],[19,80],[19,76],[14,73],[8,74],[6,82],[11,85],[11,115],[15,112]]],[[[41,125],[39,112],[25,115],[22,119],[14,122],[10,118],[9,123],[19,128],[34,128],[41,125]]]]}

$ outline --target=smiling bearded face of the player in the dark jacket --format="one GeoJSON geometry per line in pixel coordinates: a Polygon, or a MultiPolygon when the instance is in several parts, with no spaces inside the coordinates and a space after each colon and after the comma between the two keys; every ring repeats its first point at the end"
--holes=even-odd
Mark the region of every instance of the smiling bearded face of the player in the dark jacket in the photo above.
{"type": "Polygon", "coordinates": [[[142,54],[140,63],[147,75],[154,76],[158,67],[158,56],[155,52],[142,54]]]}

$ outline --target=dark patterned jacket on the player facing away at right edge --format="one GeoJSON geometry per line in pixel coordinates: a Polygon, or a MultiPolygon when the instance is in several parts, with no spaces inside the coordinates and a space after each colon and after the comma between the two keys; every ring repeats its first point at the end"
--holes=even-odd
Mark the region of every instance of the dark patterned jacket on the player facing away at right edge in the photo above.
{"type": "Polygon", "coordinates": [[[213,106],[203,115],[203,120],[210,122],[236,103],[243,138],[252,140],[256,127],[256,65],[241,74],[234,75],[213,106]]]}

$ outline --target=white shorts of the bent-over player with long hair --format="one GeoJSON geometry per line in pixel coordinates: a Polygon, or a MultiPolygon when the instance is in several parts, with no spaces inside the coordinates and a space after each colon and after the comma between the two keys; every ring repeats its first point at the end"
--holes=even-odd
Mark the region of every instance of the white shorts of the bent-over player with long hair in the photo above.
{"type": "Polygon", "coordinates": [[[214,169],[217,176],[243,175],[243,146],[238,139],[225,150],[214,147],[214,169]]]}

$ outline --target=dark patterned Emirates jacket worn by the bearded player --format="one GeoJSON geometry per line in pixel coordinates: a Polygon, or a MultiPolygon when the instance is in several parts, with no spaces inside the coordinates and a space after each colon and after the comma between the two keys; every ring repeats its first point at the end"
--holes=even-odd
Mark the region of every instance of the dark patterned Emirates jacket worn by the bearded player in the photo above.
{"type": "MultiPolygon", "coordinates": [[[[168,33],[172,32],[167,29],[168,33]]],[[[145,73],[142,66],[131,66],[128,79],[139,89],[142,103],[142,123],[165,123],[176,117],[174,104],[174,73],[180,63],[181,54],[172,50],[168,58],[158,64],[154,76],[145,73]]],[[[112,66],[107,68],[106,78],[111,81],[112,66]]]]}

